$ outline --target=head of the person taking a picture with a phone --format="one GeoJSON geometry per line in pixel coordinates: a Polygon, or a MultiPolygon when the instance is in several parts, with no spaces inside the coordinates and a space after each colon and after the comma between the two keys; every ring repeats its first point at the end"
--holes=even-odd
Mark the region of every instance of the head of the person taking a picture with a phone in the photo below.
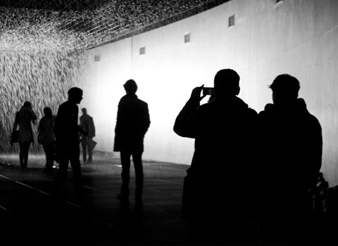
{"type": "Polygon", "coordinates": [[[237,72],[232,69],[219,70],[213,79],[215,97],[237,96],[240,91],[239,79],[237,72]]]}

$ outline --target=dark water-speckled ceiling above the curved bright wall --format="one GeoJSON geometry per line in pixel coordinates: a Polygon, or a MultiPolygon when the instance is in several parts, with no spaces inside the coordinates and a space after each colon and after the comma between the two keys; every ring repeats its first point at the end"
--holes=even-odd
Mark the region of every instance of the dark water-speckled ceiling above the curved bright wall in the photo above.
{"type": "Polygon", "coordinates": [[[49,45],[93,48],[226,1],[0,0],[0,49],[49,45]]]}

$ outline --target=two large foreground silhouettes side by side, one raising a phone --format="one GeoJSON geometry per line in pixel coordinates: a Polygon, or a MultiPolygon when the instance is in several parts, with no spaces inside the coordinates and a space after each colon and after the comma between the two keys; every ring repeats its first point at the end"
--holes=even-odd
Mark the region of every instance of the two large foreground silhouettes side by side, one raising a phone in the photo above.
{"type": "Polygon", "coordinates": [[[194,242],[316,242],[308,190],[320,172],[322,131],[298,98],[299,81],[278,75],[270,85],[273,104],[259,114],[238,97],[234,70],[218,71],[214,86],[204,105],[204,86],[196,87],[174,126],[176,134],[195,138],[182,195],[194,242]]]}

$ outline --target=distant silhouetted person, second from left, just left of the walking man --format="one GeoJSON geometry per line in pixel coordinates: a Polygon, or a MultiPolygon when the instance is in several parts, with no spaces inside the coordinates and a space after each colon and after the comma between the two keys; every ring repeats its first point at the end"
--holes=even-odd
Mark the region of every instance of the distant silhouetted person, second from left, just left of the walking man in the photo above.
{"type": "Polygon", "coordinates": [[[46,154],[46,169],[44,171],[50,172],[53,170],[54,165],[54,148],[55,148],[55,135],[54,135],[54,122],[56,116],[51,112],[51,108],[44,108],[44,117],[39,122],[39,134],[37,139],[46,154]]]}

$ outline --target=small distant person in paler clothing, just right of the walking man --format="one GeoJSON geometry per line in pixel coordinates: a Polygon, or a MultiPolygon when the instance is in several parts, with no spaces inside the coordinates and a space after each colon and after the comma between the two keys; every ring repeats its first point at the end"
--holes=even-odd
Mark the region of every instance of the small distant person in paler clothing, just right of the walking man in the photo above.
{"type": "Polygon", "coordinates": [[[91,148],[90,141],[95,136],[95,126],[93,117],[87,114],[87,109],[82,108],[82,115],[80,117],[80,127],[87,132],[87,136],[80,134],[82,151],[83,151],[83,163],[87,161],[87,150],[88,150],[88,162],[93,160],[93,149],[91,148]]]}

